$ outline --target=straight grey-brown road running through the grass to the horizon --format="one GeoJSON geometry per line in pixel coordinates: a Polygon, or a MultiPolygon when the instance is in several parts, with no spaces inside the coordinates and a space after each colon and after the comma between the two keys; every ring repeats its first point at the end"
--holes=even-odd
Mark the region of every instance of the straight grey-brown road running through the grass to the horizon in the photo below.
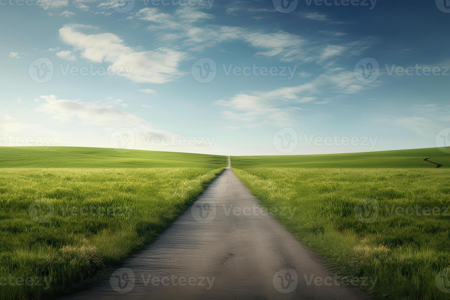
{"type": "Polygon", "coordinates": [[[68,299],[362,298],[359,290],[334,283],[228,166],[110,280],[68,299]]]}

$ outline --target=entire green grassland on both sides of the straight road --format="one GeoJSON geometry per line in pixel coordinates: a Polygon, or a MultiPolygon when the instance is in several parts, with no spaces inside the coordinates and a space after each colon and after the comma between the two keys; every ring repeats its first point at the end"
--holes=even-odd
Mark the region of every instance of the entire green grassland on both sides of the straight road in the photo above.
{"type": "MultiPolygon", "coordinates": [[[[377,298],[449,299],[436,278],[450,268],[450,154],[231,162],[264,206],[296,212],[275,217],[342,278],[377,278],[368,291],[377,298]]],[[[0,299],[55,298],[95,282],[151,242],[226,164],[175,152],[0,148],[0,278],[43,278],[1,286],[0,299]]]]}

